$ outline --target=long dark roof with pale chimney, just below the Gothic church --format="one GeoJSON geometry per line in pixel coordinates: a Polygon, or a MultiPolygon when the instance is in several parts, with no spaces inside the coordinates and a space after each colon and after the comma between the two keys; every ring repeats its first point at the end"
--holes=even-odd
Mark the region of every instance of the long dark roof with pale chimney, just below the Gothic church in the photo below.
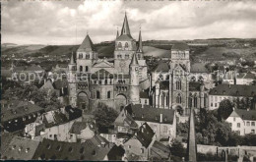
{"type": "Polygon", "coordinates": [[[125,108],[135,121],[160,123],[160,114],[162,114],[162,123],[172,124],[175,115],[172,109],[152,108],[149,105],[142,107],[141,104],[129,104],[125,108]]]}

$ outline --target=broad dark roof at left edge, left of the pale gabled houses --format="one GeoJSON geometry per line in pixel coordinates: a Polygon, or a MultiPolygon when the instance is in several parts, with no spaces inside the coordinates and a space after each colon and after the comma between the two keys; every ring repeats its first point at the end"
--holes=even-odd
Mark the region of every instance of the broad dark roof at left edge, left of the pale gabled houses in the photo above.
{"type": "Polygon", "coordinates": [[[32,113],[37,113],[39,111],[44,111],[43,108],[32,104],[28,101],[19,101],[19,104],[13,105],[6,111],[1,112],[1,122],[6,122],[9,120],[17,119],[30,115],[32,113]]]}

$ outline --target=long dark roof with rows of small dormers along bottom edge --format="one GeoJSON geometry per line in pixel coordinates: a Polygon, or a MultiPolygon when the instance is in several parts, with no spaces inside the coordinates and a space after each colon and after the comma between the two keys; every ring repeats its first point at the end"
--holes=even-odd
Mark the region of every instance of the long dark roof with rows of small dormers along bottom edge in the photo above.
{"type": "Polygon", "coordinates": [[[103,160],[111,148],[112,144],[110,143],[98,146],[92,140],[77,143],[44,138],[39,143],[33,159],[97,161],[103,160]]]}

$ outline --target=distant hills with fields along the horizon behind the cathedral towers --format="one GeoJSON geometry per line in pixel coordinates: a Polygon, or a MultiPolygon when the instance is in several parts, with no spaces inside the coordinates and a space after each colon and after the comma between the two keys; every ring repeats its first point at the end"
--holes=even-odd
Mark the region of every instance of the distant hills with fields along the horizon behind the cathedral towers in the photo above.
{"type": "MultiPolygon", "coordinates": [[[[169,57],[171,46],[175,40],[147,40],[143,42],[145,56],[169,57]]],[[[224,60],[224,59],[254,59],[256,60],[256,39],[197,39],[184,40],[193,44],[190,46],[191,58],[194,60],[224,60]],[[197,45],[198,44],[198,45],[197,45]],[[202,46],[202,44],[204,44],[202,46]],[[206,45],[205,45],[206,44],[206,45]]],[[[78,49],[79,45],[17,45],[14,43],[1,44],[1,52],[4,55],[16,54],[20,57],[28,56],[70,56],[78,49]]],[[[99,58],[112,58],[114,42],[96,44],[99,58]]]]}

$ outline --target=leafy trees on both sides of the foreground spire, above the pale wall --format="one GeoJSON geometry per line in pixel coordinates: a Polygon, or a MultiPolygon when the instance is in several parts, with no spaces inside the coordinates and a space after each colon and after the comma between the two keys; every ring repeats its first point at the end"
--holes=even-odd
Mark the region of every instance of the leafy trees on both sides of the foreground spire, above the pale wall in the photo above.
{"type": "MultiPolygon", "coordinates": [[[[233,133],[224,122],[224,111],[208,111],[201,109],[196,115],[195,129],[198,144],[235,146],[235,145],[255,145],[256,135],[240,136],[233,133]]],[[[188,135],[188,122],[177,125],[177,135],[186,141],[188,135]]]]}

